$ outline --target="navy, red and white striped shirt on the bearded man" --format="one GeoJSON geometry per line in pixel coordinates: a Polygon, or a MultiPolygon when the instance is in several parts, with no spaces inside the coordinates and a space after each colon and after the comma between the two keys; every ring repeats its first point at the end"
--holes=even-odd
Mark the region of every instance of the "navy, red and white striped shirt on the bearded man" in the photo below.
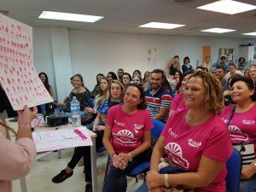
{"type": "MultiPolygon", "coordinates": [[[[151,118],[154,118],[154,116],[160,113],[160,108],[171,108],[172,96],[164,87],[161,87],[156,94],[153,94],[152,88],[148,89],[145,95],[147,109],[151,118]]],[[[161,121],[166,123],[168,116],[169,110],[165,118],[161,119],[161,121]]]]}

